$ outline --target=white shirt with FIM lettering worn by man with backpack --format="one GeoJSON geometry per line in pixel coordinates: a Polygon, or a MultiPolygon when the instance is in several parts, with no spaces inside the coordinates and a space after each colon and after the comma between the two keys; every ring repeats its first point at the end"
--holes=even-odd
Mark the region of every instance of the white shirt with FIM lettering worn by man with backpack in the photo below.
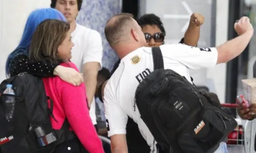
{"type": "MultiPolygon", "coordinates": [[[[216,48],[197,48],[185,44],[160,46],[164,68],[172,69],[184,76],[190,83],[188,69],[212,68],[217,63],[216,48]]],[[[143,138],[155,147],[154,138],[140,118],[138,109],[134,111],[135,91],[143,78],[154,70],[151,47],[141,47],[121,59],[104,89],[105,116],[108,119],[109,136],[126,134],[127,115],[138,124],[143,138]],[[138,60],[139,59],[139,60],[138,60]]]]}

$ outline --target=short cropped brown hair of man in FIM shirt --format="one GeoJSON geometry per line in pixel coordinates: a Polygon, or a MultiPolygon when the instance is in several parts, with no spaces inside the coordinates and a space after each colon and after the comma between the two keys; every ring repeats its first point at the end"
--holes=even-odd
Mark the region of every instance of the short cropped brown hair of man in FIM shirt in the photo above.
{"type": "Polygon", "coordinates": [[[133,15],[130,13],[120,13],[106,22],[105,37],[109,44],[117,43],[125,32],[125,28],[131,22],[133,15]]]}

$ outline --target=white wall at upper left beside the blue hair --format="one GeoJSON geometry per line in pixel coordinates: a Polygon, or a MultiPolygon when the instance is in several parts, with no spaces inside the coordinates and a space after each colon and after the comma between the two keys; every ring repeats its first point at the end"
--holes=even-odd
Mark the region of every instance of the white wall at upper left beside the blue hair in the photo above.
{"type": "Polygon", "coordinates": [[[17,46],[29,13],[50,7],[50,0],[0,0],[0,82],[5,77],[7,56],[17,46]]]}

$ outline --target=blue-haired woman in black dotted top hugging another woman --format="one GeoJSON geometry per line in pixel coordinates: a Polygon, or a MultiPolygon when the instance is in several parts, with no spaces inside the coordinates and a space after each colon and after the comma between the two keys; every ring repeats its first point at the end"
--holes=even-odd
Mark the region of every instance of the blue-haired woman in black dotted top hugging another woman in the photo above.
{"type": "Polygon", "coordinates": [[[58,75],[63,81],[78,86],[83,82],[83,77],[75,69],[45,61],[32,62],[28,58],[28,48],[31,43],[32,35],[37,25],[46,19],[66,21],[62,13],[52,8],[37,9],[31,12],[27,19],[22,39],[6,61],[6,75],[13,77],[22,72],[44,78],[58,75]]]}

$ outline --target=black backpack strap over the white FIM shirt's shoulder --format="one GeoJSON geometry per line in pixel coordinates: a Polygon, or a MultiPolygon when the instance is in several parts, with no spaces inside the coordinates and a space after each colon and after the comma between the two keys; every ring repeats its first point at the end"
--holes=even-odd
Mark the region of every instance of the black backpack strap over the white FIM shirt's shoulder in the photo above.
{"type": "Polygon", "coordinates": [[[154,70],[164,68],[163,55],[160,47],[152,47],[154,70]]]}

